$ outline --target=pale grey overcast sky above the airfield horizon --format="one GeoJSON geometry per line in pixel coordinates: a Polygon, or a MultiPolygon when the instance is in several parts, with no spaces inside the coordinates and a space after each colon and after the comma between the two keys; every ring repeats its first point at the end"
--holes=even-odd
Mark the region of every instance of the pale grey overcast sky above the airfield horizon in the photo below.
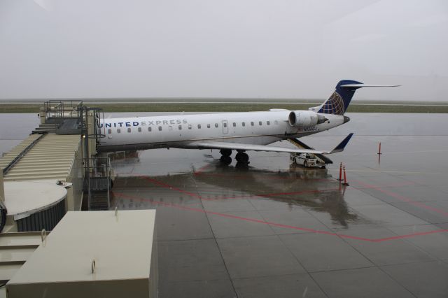
{"type": "Polygon", "coordinates": [[[0,99],[448,101],[446,0],[1,0],[0,99]]]}

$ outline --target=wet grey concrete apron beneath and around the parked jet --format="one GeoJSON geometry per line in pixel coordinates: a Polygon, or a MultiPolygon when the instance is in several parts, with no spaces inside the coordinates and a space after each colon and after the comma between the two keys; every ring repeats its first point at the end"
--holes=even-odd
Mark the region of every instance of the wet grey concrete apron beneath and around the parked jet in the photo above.
{"type": "Polygon", "coordinates": [[[111,208],[158,211],[159,297],[448,297],[447,116],[349,116],[301,139],[355,133],[327,169],[272,152],[111,156],[111,208]]]}

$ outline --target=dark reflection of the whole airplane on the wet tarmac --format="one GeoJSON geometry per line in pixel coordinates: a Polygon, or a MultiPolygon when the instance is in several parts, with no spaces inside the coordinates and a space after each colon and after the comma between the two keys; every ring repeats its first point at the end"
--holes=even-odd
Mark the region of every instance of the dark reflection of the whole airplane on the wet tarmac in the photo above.
{"type": "MultiPolygon", "coordinates": [[[[113,167],[139,163],[138,153],[115,155],[116,161],[113,162],[113,167]],[[122,160],[119,160],[120,156],[122,160]],[[123,163],[123,160],[126,162],[123,163]]],[[[191,185],[196,185],[192,193],[198,194],[203,199],[262,197],[287,204],[289,208],[301,206],[307,211],[328,213],[335,225],[348,227],[350,222],[358,222],[360,218],[351,213],[344,201],[345,188],[340,187],[335,180],[330,180],[331,177],[327,169],[307,169],[295,164],[291,164],[287,171],[268,171],[255,169],[245,163],[225,166],[218,159],[214,159],[207,166],[207,171],[195,172],[193,175],[190,172],[151,176],[151,179],[172,186],[173,188],[169,188],[170,192],[188,189],[187,192],[179,192],[181,203],[189,199],[191,185]]],[[[116,184],[118,188],[122,183],[125,183],[126,187],[148,187],[150,183],[140,177],[130,176],[121,179],[125,181],[118,181],[116,184]]],[[[157,184],[155,186],[157,187],[157,184]]],[[[154,199],[166,200],[160,192],[154,199]]],[[[192,199],[198,198],[192,197],[192,199]]]]}

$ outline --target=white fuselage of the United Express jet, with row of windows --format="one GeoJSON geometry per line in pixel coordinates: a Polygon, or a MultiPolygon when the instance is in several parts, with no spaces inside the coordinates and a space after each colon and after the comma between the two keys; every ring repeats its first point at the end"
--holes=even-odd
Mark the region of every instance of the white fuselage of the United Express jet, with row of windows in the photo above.
{"type": "MultiPolygon", "coordinates": [[[[109,118],[101,122],[100,151],[185,148],[192,141],[267,145],[281,139],[316,134],[344,123],[342,115],[311,127],[293,127],[290,111],[263,111],[155,117],[109,118]]],[[[191,147],[188,147],[191,148],[191,147]]]]}

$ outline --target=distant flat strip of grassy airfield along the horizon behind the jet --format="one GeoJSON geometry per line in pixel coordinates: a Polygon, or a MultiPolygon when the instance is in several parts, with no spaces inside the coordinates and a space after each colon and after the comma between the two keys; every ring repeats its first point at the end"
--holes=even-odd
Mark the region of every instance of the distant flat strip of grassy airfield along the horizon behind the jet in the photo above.
{"type": "MultiPolygon", "coordinates": [[[[38,113],[43,101],[0,100],[0,113],[38,113]]],[[[66,99],[64,99],[66,100],[66,99]]],[[[73,99],[103,108],[104,112],[246,112],[267,111],[269,108],[302,110],[318,106],[323,99],[73,99]]],[[[448,113],[448,102],[365,101],[351,103],[351,113],[448,113]]]]}

